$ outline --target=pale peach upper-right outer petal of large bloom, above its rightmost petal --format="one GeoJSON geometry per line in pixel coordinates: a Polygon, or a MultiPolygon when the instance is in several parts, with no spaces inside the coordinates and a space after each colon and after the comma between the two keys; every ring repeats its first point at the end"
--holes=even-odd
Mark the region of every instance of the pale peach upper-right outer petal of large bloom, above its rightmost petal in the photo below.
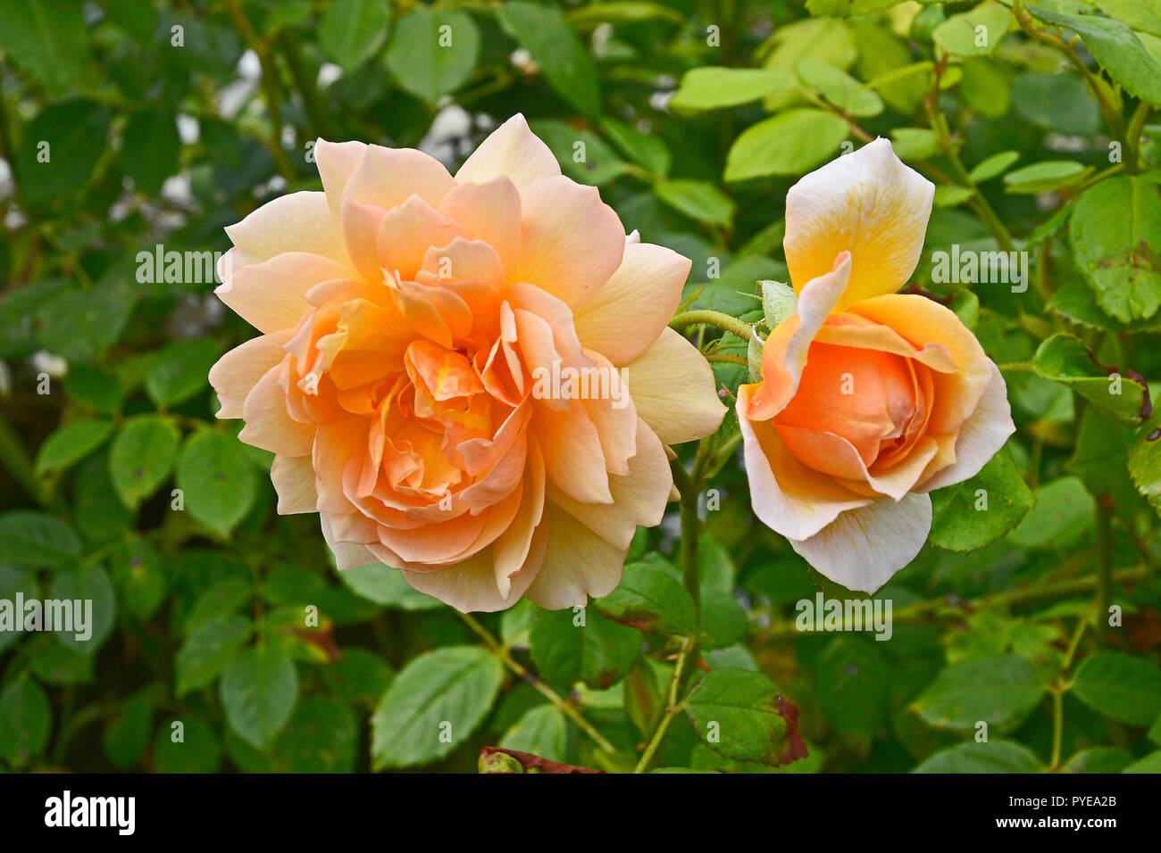
{"type": "Polygon", "coordinates": [[[621,266],[576,316],[580,341],[614,364],[628,364],[673,316],[692,263],[664,246],[626,244],[621,266]]]}

